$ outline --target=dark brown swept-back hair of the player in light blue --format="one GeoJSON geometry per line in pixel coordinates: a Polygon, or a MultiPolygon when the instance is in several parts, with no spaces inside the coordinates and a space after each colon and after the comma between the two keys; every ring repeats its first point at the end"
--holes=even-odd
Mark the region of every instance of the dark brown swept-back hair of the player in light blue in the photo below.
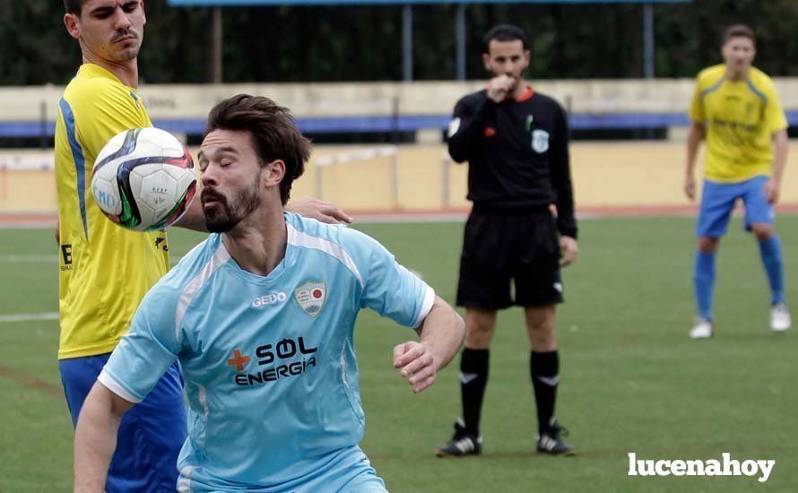
{"type": "Polygon", "coordinates": [[[239,94],[224,99],[211,110],[204,135],[218,129],[249,132],[262,167],[273,160],[285,163],[280,198],[283,205],[288,203],[291,184],[305,172],[311,148],[288,108],[262,96],[239,94]]]}

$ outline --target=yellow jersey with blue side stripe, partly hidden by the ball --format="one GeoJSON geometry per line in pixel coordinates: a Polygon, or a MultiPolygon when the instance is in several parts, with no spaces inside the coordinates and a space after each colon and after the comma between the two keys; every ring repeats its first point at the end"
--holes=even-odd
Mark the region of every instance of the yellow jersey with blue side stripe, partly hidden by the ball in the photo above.
{"type": "Polygon", "coordinates": [[[123,229],[91,195],[91,169],[103,145],[139,126],[152,126],[142,100],[99,65],[82,65],[59,101],[59,359],[114,350],[144,294],[169,269],[164,231],[123,229]]]}

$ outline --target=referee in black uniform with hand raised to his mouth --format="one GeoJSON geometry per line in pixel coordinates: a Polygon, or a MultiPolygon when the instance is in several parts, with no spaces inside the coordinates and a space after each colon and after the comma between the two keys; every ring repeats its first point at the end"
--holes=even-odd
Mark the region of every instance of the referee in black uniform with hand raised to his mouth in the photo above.
{"type": "Polygon", "coordinates": [[[554,315],[562,302],[559,267],[577,256],[568,120],[554,99],[524,82],[529,65],[524,31],[499,25],[484,41],[482,60],[494,77],[485,90],[457,101],[448,132],[452,159],[468,161],[473,210],[465,225],[457,288],[457,305],[465,307],[463,416],[455,423],[455,436],[436,454],[481,453],[480,411],[490,340],[497,310],[511,305],[525,308],[532,345],[537,450],[573,454],[554,417],[559,381],[554,315]]]}

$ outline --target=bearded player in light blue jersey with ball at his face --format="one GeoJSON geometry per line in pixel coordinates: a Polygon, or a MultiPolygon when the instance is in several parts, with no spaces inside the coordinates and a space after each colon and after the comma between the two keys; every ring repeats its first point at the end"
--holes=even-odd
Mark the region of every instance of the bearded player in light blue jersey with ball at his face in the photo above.
{"type": "Polygon", "coordinates": [[[413,392],[454,357],[464,323],[374,239],[283,212],[309,154],[271,99],[213,108],[199,166],[214,234],[149,291],[91,389],[75,491],[102,491],[119,420],[175,361],[190,407],[178,491],[386,491],[358,445],[358,312],[420,334],[394,349],[413,392]]]}

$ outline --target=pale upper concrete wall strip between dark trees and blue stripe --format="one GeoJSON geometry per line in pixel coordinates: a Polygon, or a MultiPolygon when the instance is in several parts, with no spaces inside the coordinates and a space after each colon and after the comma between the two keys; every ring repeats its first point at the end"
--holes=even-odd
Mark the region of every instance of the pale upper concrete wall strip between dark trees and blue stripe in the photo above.
{"type": "MultiPolygon", "coordinates": [[[[798,110],[798,78],[776,78],[783,106],[798,110]]],[[[271,97],[297,117],[388,116],[398,101],[402,115],[449,115],[457,99],[484,87],[470,82],[342,82],[285,84],[144,84],[141,95],[153,120],[204,118],[220,99],[247,92],[271,97]]],[[[533,81],[569,111],[603,113],[686,112],[691,79],[533,81]]],[[[0,122],[53,120],[63,87],[0,88],[0,122]],[[44,105],[44,106],[43,106],[44,105]],[[44,111],[44,115],[42,112],[44,111]]]]}

